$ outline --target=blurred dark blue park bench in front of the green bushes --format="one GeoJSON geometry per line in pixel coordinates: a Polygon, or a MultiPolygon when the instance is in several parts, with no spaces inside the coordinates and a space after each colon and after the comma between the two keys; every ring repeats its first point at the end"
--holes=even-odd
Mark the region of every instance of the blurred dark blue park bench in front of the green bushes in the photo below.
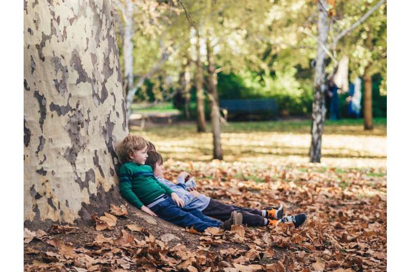
{"type": "Polygon", "coordinates": [[[259,115],[264,119],[278,119],[278,106],[274,99],[230,99],[221,100],[220,107],[224,117],[236,119],[238,116],[249,120],[255,119],[259,115]]]}

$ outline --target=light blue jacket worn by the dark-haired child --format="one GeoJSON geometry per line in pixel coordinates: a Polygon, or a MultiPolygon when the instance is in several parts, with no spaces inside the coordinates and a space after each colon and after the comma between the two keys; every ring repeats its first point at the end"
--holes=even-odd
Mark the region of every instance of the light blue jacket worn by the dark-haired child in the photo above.
{"type": "Polygon", "coordinates": [[[181,200],[184,202],[184,208],[186,209],[199,209],[200,211],[207,208],[207,206],[210,204],[210,198],[206,197],[204,195],[200,195],[198,197],[193,197],[190,192],[187,191],[188,187],[196,187],[197,184],[194,180],[189,180],[187,182],[179,182],[177,184],[174,184],[170,181],[167,181],[163,177],[156,177],[159,182],[161,182],[164,185],[167,185],[172,189],[175,193],[177,193],[177,196],[181,198],[181,200]]]}

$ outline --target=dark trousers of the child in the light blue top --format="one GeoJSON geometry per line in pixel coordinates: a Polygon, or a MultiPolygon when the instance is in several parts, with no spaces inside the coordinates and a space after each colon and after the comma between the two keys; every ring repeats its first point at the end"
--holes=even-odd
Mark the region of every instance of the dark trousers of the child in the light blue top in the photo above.
{"type": "Polygon", "coordinates": [[[235,205],[229,205],[217,200],[211,199],[207,208],[201,212],[203,215],[226,221],[230,218],[231,212],[239,211],[242,213],[242,223],[248,226],[264,226],[264,217],[261,216],[261,210],[238,207],[235,205]]]}

